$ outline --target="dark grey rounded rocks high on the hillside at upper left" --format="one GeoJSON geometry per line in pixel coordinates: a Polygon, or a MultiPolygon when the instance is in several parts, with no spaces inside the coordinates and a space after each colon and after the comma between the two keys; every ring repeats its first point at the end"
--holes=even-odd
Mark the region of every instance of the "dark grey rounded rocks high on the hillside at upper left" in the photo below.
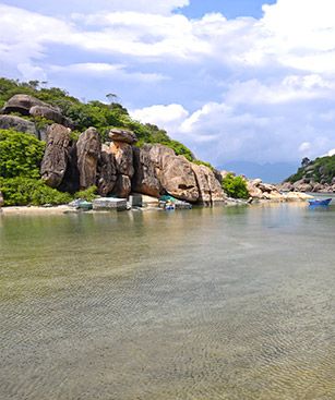
{"type": "Polygon", "coordinates": [[[61,113],[60,108],[53,107],[29,95],[15,95],[11,97],[1,109],[0,129],[13,129],[17,132],[26,132],[37,138],[46,140],[46,129],[39,128],[34,119],[45,118],[67,128],[73,128],[73,122],[61,113]],[[33,117],[27,120],[12,113],[33,117]]]}

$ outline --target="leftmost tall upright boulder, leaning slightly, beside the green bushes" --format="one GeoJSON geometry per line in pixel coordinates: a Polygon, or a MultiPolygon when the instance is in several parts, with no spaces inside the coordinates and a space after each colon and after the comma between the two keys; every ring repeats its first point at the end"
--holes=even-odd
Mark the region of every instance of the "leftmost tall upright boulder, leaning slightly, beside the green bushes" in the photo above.
{"type": "Polygon", "coordinates": [[[53,123],[48,129],[48,142],[40,166],[41,178],[51,187],[58,187],[65,174],[69,160],[70,130],[53,123]]]}

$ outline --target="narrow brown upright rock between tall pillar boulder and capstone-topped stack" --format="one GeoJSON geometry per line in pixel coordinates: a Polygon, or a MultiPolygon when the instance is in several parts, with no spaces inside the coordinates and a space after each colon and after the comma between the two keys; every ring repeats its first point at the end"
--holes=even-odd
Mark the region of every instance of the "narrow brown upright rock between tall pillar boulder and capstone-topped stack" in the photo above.
{"type": "Polygon", "coordinates": [[[109,194],[117,181],[117,167],[113,155],[109,148],[103,145],[100,159],[98,161],[97,187],[101,196],[109,194]]]}

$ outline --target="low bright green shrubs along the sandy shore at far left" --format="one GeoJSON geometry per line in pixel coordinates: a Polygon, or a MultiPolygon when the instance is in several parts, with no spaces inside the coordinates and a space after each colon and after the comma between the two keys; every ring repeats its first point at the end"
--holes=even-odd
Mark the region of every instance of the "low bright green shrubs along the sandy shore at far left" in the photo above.
{"type": "Polygon", "coordinates": [[[41,180],[31,178],[0,178],[0,191],[5,206],[40,206],[44,204],[67,204],[72,197],[51,189],[41,180]]]}

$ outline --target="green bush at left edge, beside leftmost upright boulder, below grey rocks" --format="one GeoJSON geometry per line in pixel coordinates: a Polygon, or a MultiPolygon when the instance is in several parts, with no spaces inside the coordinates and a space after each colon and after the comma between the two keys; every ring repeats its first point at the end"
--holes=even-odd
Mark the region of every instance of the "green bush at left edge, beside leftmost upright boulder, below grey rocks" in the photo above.
{"type": "Polygon", "coordinates": [[[45,143],[35,136],[0,130],[0,177],[39,178],[45,143]]]}

